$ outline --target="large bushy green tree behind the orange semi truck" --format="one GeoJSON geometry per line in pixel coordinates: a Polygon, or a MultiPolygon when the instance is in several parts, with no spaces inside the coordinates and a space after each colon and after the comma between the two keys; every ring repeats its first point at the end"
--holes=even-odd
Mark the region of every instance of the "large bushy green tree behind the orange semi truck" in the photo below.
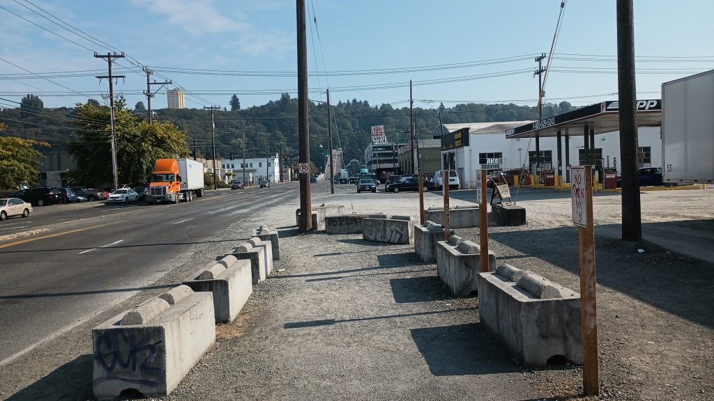
{"type": "MultiPolygon", "coordinates": [[[[188,156],[186,132],[173,123],[149,125],[126,108],[124,98],[114,102],[114,136],[120,183],[146,183],[157,158],[188,156]]],[[[111,126],[109,107],[78,104],[74,125],[77,140],[68,143],[77,168],[69,177],[81,185],[94,186],[113,181],[111,172],[111,126]]]]}

